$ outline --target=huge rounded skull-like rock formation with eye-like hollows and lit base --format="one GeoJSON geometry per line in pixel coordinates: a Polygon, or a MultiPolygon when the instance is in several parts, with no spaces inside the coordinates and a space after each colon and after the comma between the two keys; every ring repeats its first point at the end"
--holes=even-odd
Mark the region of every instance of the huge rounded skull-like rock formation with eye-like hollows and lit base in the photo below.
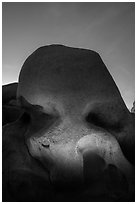
{"type": "Polygon", "coordinates": [[[4,200],[134,200],[134,119],[96,52],[39,48],[17,102],[24,114],[3,130],[4,200]]]}

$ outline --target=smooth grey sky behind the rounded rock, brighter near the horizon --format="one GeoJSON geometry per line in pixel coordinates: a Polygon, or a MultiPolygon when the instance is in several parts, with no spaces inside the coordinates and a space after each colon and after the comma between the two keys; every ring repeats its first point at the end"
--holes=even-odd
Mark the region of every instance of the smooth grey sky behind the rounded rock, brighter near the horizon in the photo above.
{"type": "Polygon", "coordinates": [[[128,108],[135,97],[134,3],[3,3],[3,84],[25,59],[57,43],[99,52],[128,108]]]}

